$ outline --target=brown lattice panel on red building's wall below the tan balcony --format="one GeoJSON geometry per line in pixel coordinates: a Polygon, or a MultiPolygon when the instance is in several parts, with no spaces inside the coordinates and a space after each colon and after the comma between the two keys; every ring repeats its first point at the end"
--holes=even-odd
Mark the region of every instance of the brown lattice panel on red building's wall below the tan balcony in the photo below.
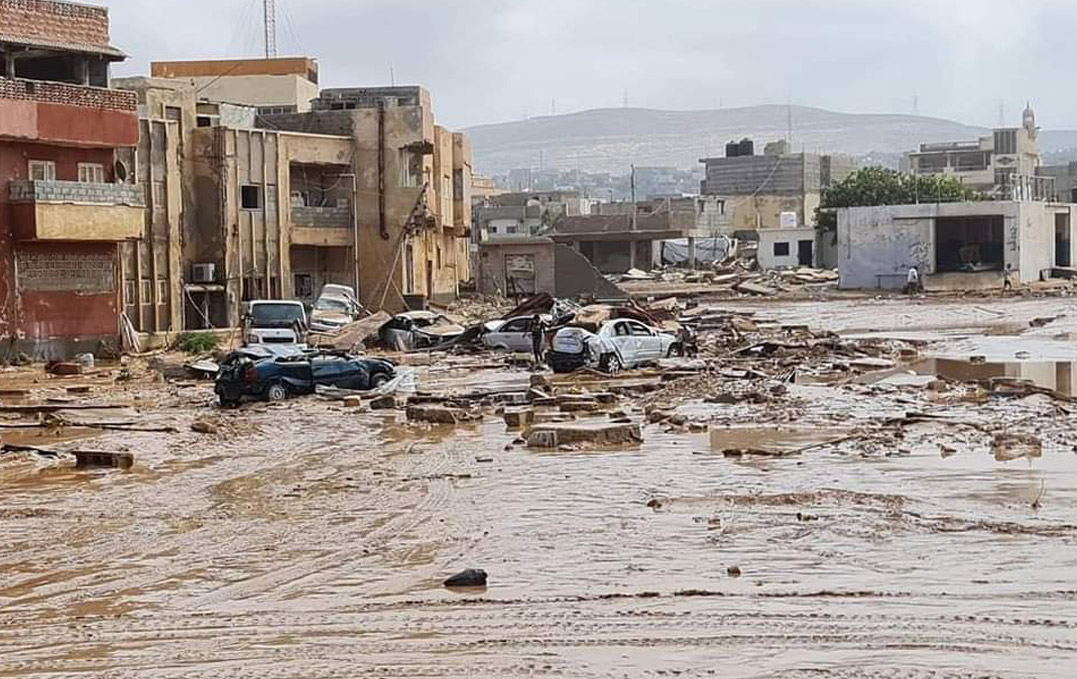
{"type": "Polygon", "coordinates": [[[109,293],[116,286],[108,253],[18,250],[15,271],[20,292],[109,293]]]}

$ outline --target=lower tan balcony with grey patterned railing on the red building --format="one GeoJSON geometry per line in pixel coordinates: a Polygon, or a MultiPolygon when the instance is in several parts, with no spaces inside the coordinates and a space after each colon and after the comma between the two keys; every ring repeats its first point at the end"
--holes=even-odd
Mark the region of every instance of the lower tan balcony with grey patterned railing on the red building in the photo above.
{"type": "Polygon", "coordinates": [[[18,240],[129,240],[145,224],[142,190],[132,184],[13,181],[8,196],[18,240]]]}

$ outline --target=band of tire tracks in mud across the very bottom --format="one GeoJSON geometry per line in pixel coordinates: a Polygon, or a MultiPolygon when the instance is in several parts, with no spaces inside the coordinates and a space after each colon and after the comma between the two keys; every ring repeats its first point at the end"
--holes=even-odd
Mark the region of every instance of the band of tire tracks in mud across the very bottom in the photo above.
{"type": "MultiPolygon", "coordinates": [[[[873,612],[880,601],[858,602],[863,613],[781,613],[686,607],[683,597],[646,600],[592,600],[583,608],[564,602],[475,602],[471,606],[422,604],[383,606],[367,612],[333,613],[332,623],[311,624],[302,613],[187,614],[154,619],[98,619],[67,629],[70,641],[42,642],[42,635],[62,634],[64,625],[0,633],[0,677],[137,676],[145,679],[213,676],[354,677],[362,676],[670,676],[669,670],[618,668],[595,671],[581,660],[588,650],[662,650],[669,666],[684,656],[674,675],[723,677],[876,678],[1016,678],[1025,675],[903,668],[924,662],[925,654],[959,657],[999,656],[1019,651],[1054,665],[1077,659],[1077,642],[1067,630],[1077,620],[1005,619],[998,616],[913,615],[873,612]],[[864,604],[871,604],[869,610],[864,604]],[[490,610],[487,610],[490,609],[490,610]],[[158,625],[158,623],[165,623],[158,625]],[[179,623],[169,627],[167,623],[179,623]],[[1053,632],[1054,638],[1048,633],[1053,632]],[[10,646],[31,634],[36,648],[10,646]],[[13,638],[14,637],[14,638],[13,638]],[[300,641],[306,641],[300,643],[300,641]],[[107,657],[85,657],[106,646],[107,657]],[[176,648],[179,647],[179,648],[176,648]],[[778,667],[766,674],[737,674],[728,666],[703,669],[693,659],[721,652],[760,649],[885,655],[886,669],[798,669],[778,667]],[[122,649],[122,650],[121,650],[122,649]],[[346,649],[346,650],[342,650],[346,649]],[[670,655],[673,653],[675,655],[670,655]],[[155,660],[155,656],[159,656],[155,660]],[[541,660],[537,660],[541,659],[541,660]],[[537,661],[537,662],[536,662],[537,661]],[[433,673],[437,668],[440,674],[433,673]],[[128,674],[131,673],[131,674],[128,674]],[[350,673],[350,674],[349,674],[350,673]],[[428,674],[431,673],[431,674],[428,674]],[[466,673],[471,673],[467,675],[466,673]]],[[[926,604],[927,601],[925,601],[926,604]]],[[[717,606],[718,601],[714,605],[717,606]]],[[[751,596],[723,597],[723,607],[752,608],[751,596]],[[731,599],[731,600],[726,600],[731,599]]],[[[914,602],[919,605],[918,602],[914,602]]],[[[10,622],[10,621],[5,621],[10,622]]],[[[719,664],[721,665],[721,664],[719,664]]],[[[1063,677],[1038,674],[1037,677],[1063,677]]]]}

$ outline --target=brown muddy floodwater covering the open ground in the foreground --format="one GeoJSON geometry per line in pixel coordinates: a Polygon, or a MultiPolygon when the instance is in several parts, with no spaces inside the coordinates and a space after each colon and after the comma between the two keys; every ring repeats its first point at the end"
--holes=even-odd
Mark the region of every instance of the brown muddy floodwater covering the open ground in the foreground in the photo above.
{"type": "MultiPolygon", "coordinates": [[[[875,379],[675,404],[705,428],[625,396],[643,440],[614,448],[514,444],[492,412],[219,413],[200,385],[159,387],[178,433],[79,443],[128,471],[0,458],[0,677],[1077,676],[1077,306],[740,307],[923,344],[875,379]],[[974,393],[993,377],[1045,391],[974,393]],[[1041,456],[998,461],[999,434],[1041,456]],[[442,586],[466,568],[485,590],[442,586]]],[[[529,384],[472,362],[419,387],[529,384]]]]}

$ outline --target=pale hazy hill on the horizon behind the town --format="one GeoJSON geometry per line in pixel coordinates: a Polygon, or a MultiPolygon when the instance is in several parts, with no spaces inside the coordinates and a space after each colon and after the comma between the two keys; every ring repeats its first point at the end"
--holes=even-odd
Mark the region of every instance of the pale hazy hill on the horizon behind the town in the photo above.
{"type": "MultiPolygon", "coordinates": [[[[467,129],[478,171],[519,167],[624,174],[631,164],[691,168],[723,155],[732,139],[763,144],[785,137],[789,108],[755,106],[714,111],[596,109],[467,129]],[[541,158],[540,158],[541,156],[541,158]]],[[[922,141],[976,139],[988,130],[919,115],[836,113],[793,107],[794,150],[896,160],[922,141]]],[[[1044,151],[1077,148],[1077,133],[1044,133],[1044,151]]]]}

